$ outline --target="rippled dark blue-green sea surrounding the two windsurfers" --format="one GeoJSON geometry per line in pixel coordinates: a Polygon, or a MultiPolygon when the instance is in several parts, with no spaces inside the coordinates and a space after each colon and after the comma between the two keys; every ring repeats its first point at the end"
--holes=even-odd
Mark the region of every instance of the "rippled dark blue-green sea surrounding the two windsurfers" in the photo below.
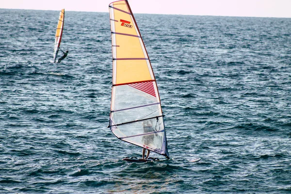
{"type": "MultiPolygon", "coordinates": [[[[132,10],[134,13],[134,10],[132,10]]],[[[135,14],[170,159],[109,125],[109,13],[0,9],[1,194],[291,194],[291,18],[135,14]]]]}

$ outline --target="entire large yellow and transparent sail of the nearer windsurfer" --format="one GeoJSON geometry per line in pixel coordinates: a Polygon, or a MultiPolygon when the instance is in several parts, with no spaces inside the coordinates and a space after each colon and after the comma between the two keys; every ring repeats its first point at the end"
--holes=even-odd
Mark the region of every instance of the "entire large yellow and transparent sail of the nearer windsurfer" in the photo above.
{"type": "Polygon", "coordinates": [[[120,140],[169,159],[157,82],[127,0],[109,5],[113,86],[109,128],[120,140]]]}

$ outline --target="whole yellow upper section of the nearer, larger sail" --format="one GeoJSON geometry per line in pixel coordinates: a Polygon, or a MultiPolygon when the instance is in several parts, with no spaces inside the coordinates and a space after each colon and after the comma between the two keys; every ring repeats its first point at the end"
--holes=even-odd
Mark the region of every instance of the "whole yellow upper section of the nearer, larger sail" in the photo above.
{"type": "Polygon", "coordinates": [[[125,0],[110,4],[113,36],[113,84],[154,80],[149,59],[125,0]]]}

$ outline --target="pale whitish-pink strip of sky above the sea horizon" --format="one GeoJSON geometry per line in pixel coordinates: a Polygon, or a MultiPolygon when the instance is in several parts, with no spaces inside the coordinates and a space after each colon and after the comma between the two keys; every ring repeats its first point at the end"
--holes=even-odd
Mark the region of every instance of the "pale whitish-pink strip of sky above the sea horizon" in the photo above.
{"type": "MultiPolygon", "coordinates": [[[[108,12],[114,0],[0,0],[0,8],[108,12]]],[[[135,14],[291,17],[291,0],[129,0],[135,14]]]]}

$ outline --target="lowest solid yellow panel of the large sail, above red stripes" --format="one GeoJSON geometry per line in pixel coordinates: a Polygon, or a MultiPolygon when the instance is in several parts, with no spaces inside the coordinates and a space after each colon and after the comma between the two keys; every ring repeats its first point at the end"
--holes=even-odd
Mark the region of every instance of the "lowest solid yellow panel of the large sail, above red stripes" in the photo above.
{"type": "Polygon", "coordinates": [[[146,60],[118,60],[116,84],[151,80],[146,60]]]}

